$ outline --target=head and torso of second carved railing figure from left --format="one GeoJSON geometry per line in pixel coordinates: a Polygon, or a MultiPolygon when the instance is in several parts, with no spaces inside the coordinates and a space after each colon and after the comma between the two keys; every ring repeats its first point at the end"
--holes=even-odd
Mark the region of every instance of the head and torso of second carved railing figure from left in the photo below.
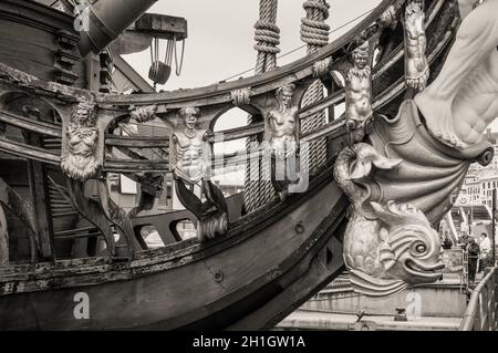
{"type": "Polygon", "coordinates": [[[206,141],[206,131],[197,129],[197,107],[185,107],[179,112],[185,128],[175,133],[174,143],[176,164],[174,173],[177,177],[189,184],[197,184],[207,176],[209,170],[209,145],[206,141]]]}

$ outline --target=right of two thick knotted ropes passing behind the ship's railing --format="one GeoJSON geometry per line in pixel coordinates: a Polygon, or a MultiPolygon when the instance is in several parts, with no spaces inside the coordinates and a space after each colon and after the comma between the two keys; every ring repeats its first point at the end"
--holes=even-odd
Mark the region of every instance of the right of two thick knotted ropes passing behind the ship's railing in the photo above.
{"type": "MultiPolygon", "coordinates": [[[[325,23],[325,20],[329,18],[330,4],[326,0],[307,0],[303,8],[307,11],[307,17],[301,20],[301,40],[308,44],[308,54],[312,54],[329,43],[330,27],[325,23]]],[[[308,106],[322,98],[323,84],[320,80],[317,80],[307,90],[302,106],[308,106]]],[[[325,124],[325,112],[320,112],[303,122],[302,132],[308,133],[325,124]]],[[[310,143],[310,153],[303,154],[302,158],[309,158],[309,160],[303,160],[303,165],[308,165],[310,170],[322,166],[326,160],[326,139],[321,138],[310,143]]]]}

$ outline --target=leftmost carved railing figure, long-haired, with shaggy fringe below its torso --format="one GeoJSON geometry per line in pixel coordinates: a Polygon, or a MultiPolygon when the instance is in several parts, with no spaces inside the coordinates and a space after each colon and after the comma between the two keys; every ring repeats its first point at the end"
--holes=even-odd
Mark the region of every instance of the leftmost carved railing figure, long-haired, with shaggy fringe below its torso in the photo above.
{"type": "Polygon", "coordinates": [[[71,111],[71,121],[64,134],[66,146],[61,168],[70,178],[84,181],[102,166],[98,157],[97,107],[93,102],[80,102],[71,111]]]}

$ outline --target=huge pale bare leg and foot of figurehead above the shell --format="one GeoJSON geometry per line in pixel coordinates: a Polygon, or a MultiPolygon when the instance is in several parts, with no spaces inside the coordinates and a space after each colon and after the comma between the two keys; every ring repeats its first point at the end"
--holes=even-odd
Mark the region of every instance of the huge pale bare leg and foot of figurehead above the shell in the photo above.
{"type": "Polygon", "coordinates": [[[458,149],[481,142],[498,116],[498,0],[474,4],[459,0],[465,19],[455,44],[437,79],[415,97],[429,132],[458,149]]]}

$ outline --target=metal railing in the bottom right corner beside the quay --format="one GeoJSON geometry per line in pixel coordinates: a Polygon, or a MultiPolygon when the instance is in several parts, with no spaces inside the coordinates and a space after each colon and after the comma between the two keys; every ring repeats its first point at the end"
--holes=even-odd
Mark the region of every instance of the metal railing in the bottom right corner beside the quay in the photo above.
{"type": "Polygon", "coordinates": [[[459,331],[496,331],[498,328],[498,267],[474,289],[459,331]]]}

